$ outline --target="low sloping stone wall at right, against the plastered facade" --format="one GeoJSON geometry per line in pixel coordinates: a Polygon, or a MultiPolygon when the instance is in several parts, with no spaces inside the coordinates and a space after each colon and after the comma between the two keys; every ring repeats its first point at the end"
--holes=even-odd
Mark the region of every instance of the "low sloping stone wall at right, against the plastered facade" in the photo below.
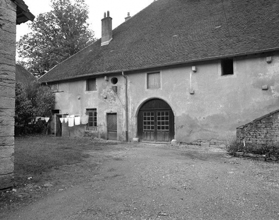
{"type": "Polygon", "coordinates": [[[274,144],[279,142],[279,110],[266,114],[236,129],[236,140],[245,144],[274,144]]]}

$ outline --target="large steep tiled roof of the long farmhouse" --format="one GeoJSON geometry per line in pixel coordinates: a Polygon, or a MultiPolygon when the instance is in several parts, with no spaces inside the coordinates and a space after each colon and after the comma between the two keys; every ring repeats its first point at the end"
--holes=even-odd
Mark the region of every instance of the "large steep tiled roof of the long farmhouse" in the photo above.
{"type": "Polygon", "coordinates": [[[114,29],[110,44],[100,44],[40,81],[277,49],[279,0],[157,0],[114,29]]]}

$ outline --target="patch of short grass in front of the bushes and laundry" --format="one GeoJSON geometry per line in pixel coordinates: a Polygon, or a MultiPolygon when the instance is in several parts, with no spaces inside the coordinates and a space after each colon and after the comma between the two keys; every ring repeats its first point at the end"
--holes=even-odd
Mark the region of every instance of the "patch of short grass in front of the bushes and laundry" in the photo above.
{"type": "Polygon", "coordinates": [[[15,138],[15,182],[23,185],[27,177],[40,181],[43,173],[65,164],[82,162],[89,154],[86,150],[102,150],[116,143],[92,138],[69,138],[32,135],[15,138]]]}

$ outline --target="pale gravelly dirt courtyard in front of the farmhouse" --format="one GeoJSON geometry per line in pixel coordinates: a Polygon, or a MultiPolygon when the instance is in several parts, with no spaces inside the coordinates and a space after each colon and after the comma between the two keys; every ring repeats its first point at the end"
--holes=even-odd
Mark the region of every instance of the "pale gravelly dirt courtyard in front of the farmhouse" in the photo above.
{"type": "Polygon", "coordinates": [[[89,153],[86,163],[53,171],[56,182],[46,197],[3,219],[279,219],[278,163],[170,145],[123,144],[89,153]]]}

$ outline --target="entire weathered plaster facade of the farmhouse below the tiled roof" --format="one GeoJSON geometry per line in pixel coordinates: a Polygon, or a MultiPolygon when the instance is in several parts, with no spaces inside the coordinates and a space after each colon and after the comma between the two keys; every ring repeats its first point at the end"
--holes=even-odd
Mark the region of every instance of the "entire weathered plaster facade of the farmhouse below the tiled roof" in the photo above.
{"type": "MultiPolygon", "coordinates": [[[[235,137],[240,125],[278,109],[279,54],[236,57],[233,70],[233,75],[222,76],[219,60],[156,69],[161,73],[159,89],[147,89],[147,73],[153,71],[126,72],[129,139],[137,137],[138,111],[151,98],[160,98],[169,104],[174,112],[175,138],[186,143],[235,137]],[[267,56],[272,56],[270,64],[266,62],[267,56]],[[196,66],[196,72],[192,66],[196,66]],[[268,89],[263,90],[263,86],[268,89]],[[194,94],[190,94],[190,90],[194,90],[194,94]]],[[[96,108],[98,136],[105,138],[106,114],[116,112],[118,140],[124,140],[125,110],[112,90],[112,77],[118,78],[115,86],[125,103],[124,78],[119,74],[109,75],[109,81],[105,81],[104,76],[97,78],[96,91],[85,91],[85,80],[65,83],[64,92],[56,94],[56,109],[82,115],[86,108],[96,108]]]]}

